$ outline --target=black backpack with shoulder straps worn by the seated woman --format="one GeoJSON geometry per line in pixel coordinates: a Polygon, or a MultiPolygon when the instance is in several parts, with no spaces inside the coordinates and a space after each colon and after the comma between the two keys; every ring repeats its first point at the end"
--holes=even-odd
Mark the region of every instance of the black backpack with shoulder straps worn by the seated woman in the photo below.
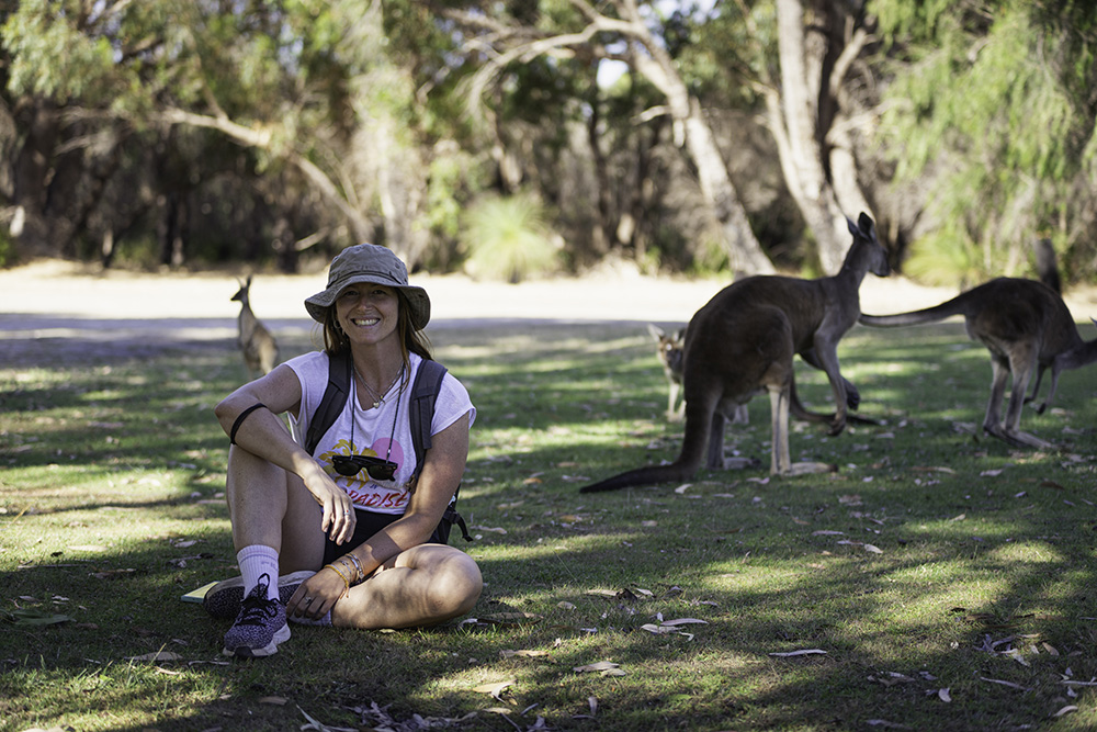
{"type": "MultiPolygon", "coordinates": [[[[350,395],[351,380],[350,351],[342,350],[328,358],[328,385],[324,390],[320,405],[316,407],[313,418],[308,424],[308,433],[305,436],[305,449],[308,454],[314,454],[320,438],[328,431],[339,413],[347,404],[350,395]]],[[[416,469],[411,476],[412,484],[419,481],[422,472],[423,455],[430,449],[430,423],[434,416],[434,402],[438,399],[438,392],[442,387],[442,379],[445,376],[445,367],[438,361],[423,359],[419,364],[419,372],[411,384],[410,415],[411,420],[411,447],[415,450],[416,469]]],[[[461,486],[457,486],[457,491],[461,486]]],[[[445,507],[442,520],[439,522],[430,541],[433,543],[449,543],[450,528],[456,523],[461,527],[461,536],[465,541],[472,541],[468,536],[468,528],[465,519],[457,513],[457,492],[453,493],[453,500],[445,507]]]]}

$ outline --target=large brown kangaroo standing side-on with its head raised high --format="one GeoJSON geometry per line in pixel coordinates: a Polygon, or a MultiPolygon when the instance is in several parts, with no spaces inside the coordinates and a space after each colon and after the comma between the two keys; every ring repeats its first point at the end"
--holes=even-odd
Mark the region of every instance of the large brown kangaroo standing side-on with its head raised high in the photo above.
{"type": "MultiPolygon", "coordinates": [[[[846,427],[848,388],[838,365],[838,341],[861,314],[858,290],[867,272],[891,270],[872,219],[849,222],[853,243],[834,277],[801,280],[759,275],[724,288],[699,309],[686,333],[683,386],[686,435],[677,460],[640,468],[581,487],[581,493],[685,481],[708,458],[723,466],[725,414],[767,391],[772,423],[770,473],[799,475],[833,470],[827,463],[793,463],[789,453],[789,408],[793,357],[826,372],[836,412],[830,433],[846,427]],[[708,448],[708,451],[706,451],[708,448]]],[[[853,398],[853,405],[857,399],[853,398]]]]}

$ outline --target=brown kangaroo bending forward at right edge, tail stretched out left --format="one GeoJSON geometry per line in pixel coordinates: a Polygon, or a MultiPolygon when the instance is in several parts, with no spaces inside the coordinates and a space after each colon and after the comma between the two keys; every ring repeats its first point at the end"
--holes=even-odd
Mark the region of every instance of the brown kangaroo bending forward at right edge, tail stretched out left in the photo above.
{"type": "Polygon", "coordinates": [[[1021,431],[1021,408],[1036,399],[1043,372],[1050,368],[1051,387],[1037,407],[1038,413],[1043,413],[1055,397],[1060,373],[1097,361],[1097,339],[1082,339],[1070,309],[1054,290],[1042,282],[1013,278],[991,280],[926,309],[861,315],[860,320],[869,326],[892,327],[936,323],[953,315],[963,315],[968,336],[991,351],[991,399],[983,430],[1014,447],[1054,450],[1052,442],[1021,431]],[[1033,371],[1037,379],[1032,395],[1025,398],[1033,371]],[[1003,420],[1002,401],[1010,374],[1014,383],[1003,420]]]}

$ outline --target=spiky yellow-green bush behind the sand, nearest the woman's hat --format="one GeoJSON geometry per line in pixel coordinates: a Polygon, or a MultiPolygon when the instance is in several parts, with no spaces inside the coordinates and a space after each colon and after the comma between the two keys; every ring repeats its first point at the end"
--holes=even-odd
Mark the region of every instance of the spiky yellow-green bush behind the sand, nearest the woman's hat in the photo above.
{"type": "Polygon", "coordinates": [[[544,206],[531,194],[485,195],[468,207],[461,233],[474,277],[521,282],[559,268],[559,246],[544,206]]]}

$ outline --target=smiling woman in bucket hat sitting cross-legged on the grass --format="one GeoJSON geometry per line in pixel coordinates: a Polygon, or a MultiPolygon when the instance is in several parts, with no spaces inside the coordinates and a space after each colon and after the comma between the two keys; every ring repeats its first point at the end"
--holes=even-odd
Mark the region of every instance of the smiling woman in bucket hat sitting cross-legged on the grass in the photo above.
{"type": "Polygon", "coordinates": [[[214,586],[203,604],[214,617],[236,618],[226,655],[275,653],[290,638],[287,619],[431,626],[468,612],[483,584],[467,554],[425,543],[461,483],[476,417],[446,373],[416,480],[408,415],[410,385],[430,359],[420,333],[430,318],[426,291],[408,284],[392,251],[362,244],[336,256],[327,288],[305,307],[324,325],[325,349],[275,367],[215,409],[233,442],[226,492],[241,576],[214,586]],[[329,359],[344,351],[349,398],[309,454],[305,435],[329,359]]]}

